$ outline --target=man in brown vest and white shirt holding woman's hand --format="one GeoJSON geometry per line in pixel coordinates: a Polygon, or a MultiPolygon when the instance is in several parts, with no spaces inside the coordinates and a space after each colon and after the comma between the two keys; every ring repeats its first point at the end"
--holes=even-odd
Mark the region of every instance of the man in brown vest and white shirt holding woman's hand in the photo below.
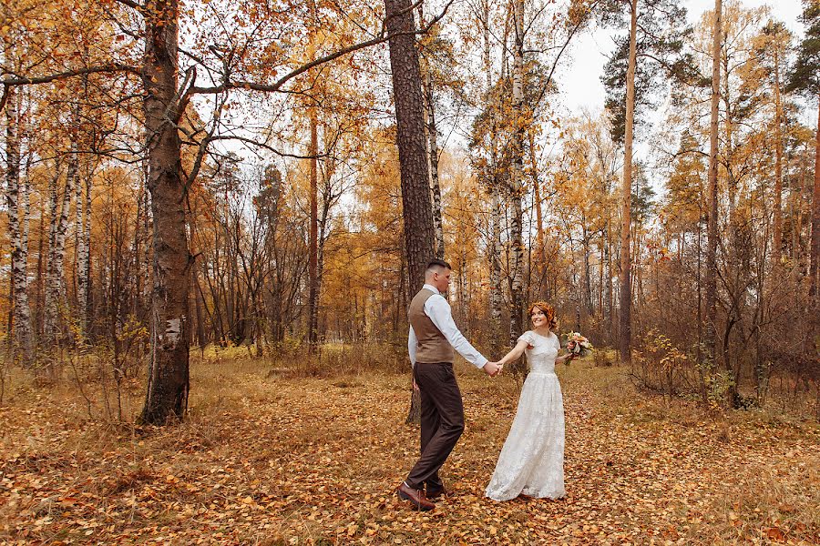
{"type": "Polygon", "coordinates": [[[450,284],[452,268],[446,261],[432,260],[425,271],[425,286],[410,302],[410,336],[407,349],[413,379],[421,395],[421,458],[407,479],[396,488],[398,496],[419,510],[433,510],[435,499],[445,493],[438,477],[450,451],[464,431],[464,406],[453,373],[456,349],[462,357],[490,377],[501,370],[489,362],[458,331],[450,305],[442,296],[450,284]],[[426,493],[425,493],[426,486],[426,493]]]}

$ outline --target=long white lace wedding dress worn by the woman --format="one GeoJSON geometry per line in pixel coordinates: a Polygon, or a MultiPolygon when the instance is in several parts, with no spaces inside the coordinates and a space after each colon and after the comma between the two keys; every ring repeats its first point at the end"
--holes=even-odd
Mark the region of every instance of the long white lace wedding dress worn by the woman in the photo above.
{"type": "Polygon", "coordinates": [[[521,493],[549,499],[564,496],[564,401],[555,375],[559,339],[551,332],[545,338],[533,331],[521,339],[528,342],[529,374],[487,486],[486,495],[494,501],[515,499],[521,493]]]}

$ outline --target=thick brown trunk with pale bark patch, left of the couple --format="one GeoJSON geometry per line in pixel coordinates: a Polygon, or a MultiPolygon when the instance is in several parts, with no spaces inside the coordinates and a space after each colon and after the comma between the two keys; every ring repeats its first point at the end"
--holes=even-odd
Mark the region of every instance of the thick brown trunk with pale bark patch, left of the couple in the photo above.
{"type": "Polygon", "coordinates": [[[181,179],[177,0],[146,3],[146,46],[142,81],[148,138],[151,212],[154,218],[154,288],[151,298],[151,357],[140,421],[164,424],[188,407],[188,285],[190,253],[181,179]]]}

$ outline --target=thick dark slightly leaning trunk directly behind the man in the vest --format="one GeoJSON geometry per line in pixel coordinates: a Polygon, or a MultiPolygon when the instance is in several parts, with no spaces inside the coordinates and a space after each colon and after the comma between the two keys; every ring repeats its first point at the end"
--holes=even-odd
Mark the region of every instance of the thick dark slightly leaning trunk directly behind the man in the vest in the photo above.
{"type": "MultiPolygon", "coordinates": [[[[427,261],[434,256],[433,209],[427,172],[424,98],[415,23],[410,0],[384,0],[387,32],[390,36],[390,68],[393,73],[396,145],[402,186],[402,215],[405,220],[405,251],[412,294],[425,282],[427,261]]],[[[415,389],[411,393],[408,422],[418,422],[421,403],[415,389]]]]}

